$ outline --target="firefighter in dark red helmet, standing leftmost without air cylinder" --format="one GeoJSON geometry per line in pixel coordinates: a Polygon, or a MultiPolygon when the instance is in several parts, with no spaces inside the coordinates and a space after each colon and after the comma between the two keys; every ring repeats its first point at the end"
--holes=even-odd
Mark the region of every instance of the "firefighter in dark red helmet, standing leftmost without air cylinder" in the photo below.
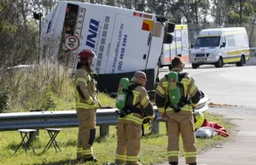
{"type": "Polygon", "coordinates": [[[78,56],[79,63],[74,81],[76,111],[79,118],[77,160],[97,162],[93,156],[92,145],[96,138],[96,109],[99,108],[99,102],[96,95],[96,81],[91,70],[96,54],[85,49],[78,56]]]}

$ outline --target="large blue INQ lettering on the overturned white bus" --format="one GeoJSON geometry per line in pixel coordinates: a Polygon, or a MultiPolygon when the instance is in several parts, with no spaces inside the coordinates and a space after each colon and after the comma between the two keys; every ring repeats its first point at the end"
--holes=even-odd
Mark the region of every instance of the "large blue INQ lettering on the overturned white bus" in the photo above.
{"type": "Polygon", "coordinates": [[[90,26],[89,26],[89,33],[86,38],[85,45],[89,46],[90,48],[95,48],[97,31],[99,29],[100,21],[90,19],[90,26]]]}

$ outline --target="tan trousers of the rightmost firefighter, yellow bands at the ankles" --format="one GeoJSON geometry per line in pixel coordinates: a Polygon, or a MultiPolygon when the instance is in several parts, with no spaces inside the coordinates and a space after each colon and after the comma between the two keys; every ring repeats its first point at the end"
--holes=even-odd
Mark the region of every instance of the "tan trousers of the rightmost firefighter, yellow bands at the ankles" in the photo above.
{"type": "Polygon", "coordinates": [[[183,139],[183,153],[187,164],[196,162],[195,128],[191,111],[166,112],[169,162],[178,162],[179,134],[183,139]]]}

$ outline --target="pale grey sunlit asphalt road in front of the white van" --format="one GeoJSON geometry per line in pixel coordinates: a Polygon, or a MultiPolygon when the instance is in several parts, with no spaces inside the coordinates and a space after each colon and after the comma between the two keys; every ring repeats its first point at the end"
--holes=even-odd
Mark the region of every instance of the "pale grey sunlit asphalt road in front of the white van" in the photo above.
{"type": "MultiPolygon", "coordinates": [[[[167,71],[167,67],[160,69],[160,78],[167,71]]],[[[184,71],[195,79],[210,102],[256,108],[256,65],[202,65],[197,69],[187,66],[184,71]]]]}

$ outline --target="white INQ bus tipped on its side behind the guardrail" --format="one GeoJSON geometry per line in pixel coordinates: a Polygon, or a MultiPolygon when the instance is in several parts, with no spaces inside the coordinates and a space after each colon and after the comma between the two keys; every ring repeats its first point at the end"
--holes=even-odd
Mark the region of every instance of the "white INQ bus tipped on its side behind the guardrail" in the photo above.
{"type": "Polygon", "coordinates": [[[53,57],[69,61],[74,70],[77,54],[85,48],[93,50],[100,91],[116,92],[119,79],[132,77],[135,71],[146,72],[147,88],[152,90],[163,43],[172,42],[169,32],[174,28],[156,14],[61,1],[44,20],[41,46],[47,52],[53,45],[49,40],[56,41],[53,57]]]}

